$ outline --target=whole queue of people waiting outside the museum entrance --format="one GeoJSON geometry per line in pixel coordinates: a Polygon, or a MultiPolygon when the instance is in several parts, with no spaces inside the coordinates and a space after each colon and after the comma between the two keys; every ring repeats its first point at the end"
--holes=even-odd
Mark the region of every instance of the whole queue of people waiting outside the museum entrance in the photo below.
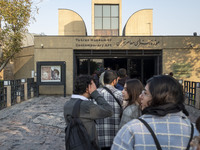
{"type": "Polygon", "coordinates": [[[98,88],[93,79],[88,77],[83,86],[86,78],[78,77],[74,94],[64,106],[66,124],[73,101],[82,99],[87,103],[82,104],[80,118],[98,149],[198,148],[200,118],[196,124],[188,119],[183,88],[175,78],[157,75],[143,86],[140,80],[125,75],[123,88],[117,89],[118,75],[113,70],[103,71],[98,88]]]}

